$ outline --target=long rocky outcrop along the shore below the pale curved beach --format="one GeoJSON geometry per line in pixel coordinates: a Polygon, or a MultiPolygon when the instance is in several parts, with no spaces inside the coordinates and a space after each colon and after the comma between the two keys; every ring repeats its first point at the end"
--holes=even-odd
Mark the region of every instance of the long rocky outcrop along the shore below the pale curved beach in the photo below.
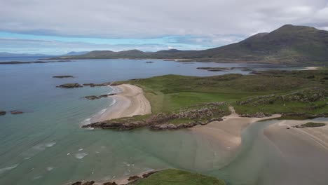
{"type": "MultiPolygon", "coordinates": [[[[224,102],[217,102],[217,104],[224,104],[224,102]]],[[[149,127],[151,130],[176,130],[180,128],[192,128],[196,125],[206,125],[212,121],[222,121],[221,116],[224,116],[224,114],[226,112],[219,109],[219,107],[209,106],[182,110],[179,113],[159,113],[144,119],[138,119],[137,117],[118,118],[83,125],[83,128],[131,130],[134,128],[149,127]],[[177,122],[170,123],[172,121],[177,122]]]]}

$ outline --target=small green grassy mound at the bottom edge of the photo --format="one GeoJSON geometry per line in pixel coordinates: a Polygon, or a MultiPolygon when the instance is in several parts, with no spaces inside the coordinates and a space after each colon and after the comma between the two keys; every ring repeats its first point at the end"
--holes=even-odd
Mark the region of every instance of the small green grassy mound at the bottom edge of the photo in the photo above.
{"type": "Polygon", "coordinates": [[[225,185],[223,180],[182,170],[163,170],[141,179],[135,185],[225,185]]]}

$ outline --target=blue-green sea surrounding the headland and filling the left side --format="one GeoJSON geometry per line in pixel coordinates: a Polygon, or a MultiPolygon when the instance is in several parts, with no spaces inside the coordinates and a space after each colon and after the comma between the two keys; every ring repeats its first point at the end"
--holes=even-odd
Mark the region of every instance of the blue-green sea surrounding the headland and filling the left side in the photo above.
{"type": "MultiPolygon", "coordinates": [[[[0,58],[0,62],[13,60],[34,61],[36,58],[0,58]]],[[[211,174],[226,179],[228,184],[251,185],[254,179],[259,178],[257,172],[264,163],[257,163],[254,170],[247,170],[245,174],[248,164],[245,161],[255,161],[259,155],[250,155],[250,147],[242,150],[245,155],[240,154],[242,157],[224,167],[226,163],[220,149],[188,130],[118,132],[82,129],[81,125],[90,123],[90,118],[104,113],[114,103],[110,98],[91,101],[83,97],[111,93],[113,89],[56,88],[62,83],[104,83],[165,74],[214,76],[250,72],[214,72],[197,67],[247,67],[254,71],[295,69],[270,64],[163,60],[76,60],[0,65],[0,110],[7,111],[5,116],[0,116],[0,184],[61,185],[83,179],[107,181],[147,170],[176,167],[211,174]],[[52,78],[55,75],[75,78],[52,78]],[[20,110],[24,114],[8,114],[11,110],[20,110]]],[[[273,122],[269,121],[268,124],[273,122]]],[[[252,141],[247,133],[254,130],[247,130],[243,137],[246,141],[252,141]]],[[[252,148],[255,151],[252,152],[259,150],[269,153],[270,149],[261,147],[263,142],[255,144],[256,147],[252,148]]],[[[264,160],[266,154],[263,155],[260,157],[264,160]]]]}

